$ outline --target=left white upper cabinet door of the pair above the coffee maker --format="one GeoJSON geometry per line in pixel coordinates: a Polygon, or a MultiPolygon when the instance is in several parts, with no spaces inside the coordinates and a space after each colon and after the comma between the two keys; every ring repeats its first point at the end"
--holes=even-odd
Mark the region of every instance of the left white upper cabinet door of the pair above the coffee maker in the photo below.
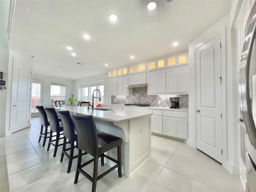
{"type": "Polygon", "coordinates": [[[166,70],[166,92],[177,92],[177,68],[166,70]]]}

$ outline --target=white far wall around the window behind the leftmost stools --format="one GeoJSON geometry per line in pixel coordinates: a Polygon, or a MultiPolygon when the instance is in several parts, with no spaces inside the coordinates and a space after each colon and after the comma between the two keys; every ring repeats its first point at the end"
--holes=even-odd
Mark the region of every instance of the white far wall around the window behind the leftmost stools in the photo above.
{"type": "Polygon", "coordinates": [[[71,94],[75,95],[75,88],[74,88],[74,80],[67,80],[62,78],[55,78],[55,77],[48,77],[48,76],[41,76],[41,75],[33,75],[33,79],[43,80],[43,106],[51,106],[51,83],[60,83],[60,84],[66,84],[67,85],[67,91],[66,91],[66,104],[68,99],[71,97],[71,94]]]}

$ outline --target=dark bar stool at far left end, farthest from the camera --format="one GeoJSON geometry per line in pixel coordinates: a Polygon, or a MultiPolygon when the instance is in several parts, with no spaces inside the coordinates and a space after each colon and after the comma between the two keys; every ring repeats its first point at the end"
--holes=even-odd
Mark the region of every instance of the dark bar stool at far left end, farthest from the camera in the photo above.
{"type": "Polygon", "coordinates": [[[39,136],[38,142],[40,142],[41,138],[44,138],[44,141],[43,141],[43,147],[44,147],[46,138],[50,137],[50,136],[47,136],[50,133],[50,132],[48,132],[48,126],[50,126],[50,122],[48,121],[46,112],[44,110],[44,106],[36,106],[36,109],[38,110],[40,119],[41,119],[41,130],[40,130],[40,136],[39,136]],[[43,133],[44,127],[45,127],[45,129],[44,129],[44,133],[43,133]]]}

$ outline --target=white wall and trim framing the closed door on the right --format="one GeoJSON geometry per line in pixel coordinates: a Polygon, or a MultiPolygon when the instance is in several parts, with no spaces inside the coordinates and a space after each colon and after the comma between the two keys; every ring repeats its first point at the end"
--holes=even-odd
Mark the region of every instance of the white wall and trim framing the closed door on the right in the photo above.
{"type": "MultiPolygon", "coordinates": [[[[222,165],[230,172],[237,170],[237,130],[234,129],[237,109],[236,79],[234,72],[236,65],[231,60],[231,30],[229,15],[222,18],[214,26],[206,30],[198,38],[189,44],[189,68],[190,68],[190,90],[189,90],[189,121],[188,121],[188,144],[196,148],[196,92],[195,92],[195,66],[194,66],[194,48],[198,44],[221,35],[221,62],[222,62],[222,165]],[[235,90],[234,90],[235,88],[235,90]]],[[[237,173],[237,172],[236,172],[237,173]]]]}

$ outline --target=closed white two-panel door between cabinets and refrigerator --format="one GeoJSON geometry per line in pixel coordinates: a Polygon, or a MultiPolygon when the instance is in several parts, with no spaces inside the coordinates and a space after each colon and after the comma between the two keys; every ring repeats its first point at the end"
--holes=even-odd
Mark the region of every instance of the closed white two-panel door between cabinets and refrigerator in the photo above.
{"type": "Polygon", "coordinates": [[[222,163],[220,36],[196,49],[197,148],[222,163]]]}

